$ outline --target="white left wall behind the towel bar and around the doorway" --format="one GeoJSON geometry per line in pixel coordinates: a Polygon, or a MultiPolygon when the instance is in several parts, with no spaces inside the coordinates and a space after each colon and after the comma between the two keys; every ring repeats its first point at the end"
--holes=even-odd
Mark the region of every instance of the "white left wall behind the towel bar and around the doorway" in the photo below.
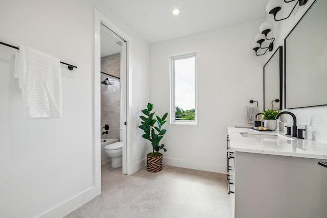
{"type": "Polygon", "coordinates": [[[149,100],[149,45],[101,1],[5,1],[0,8],[1,41],[34,47],[78,68],[61,68],[62,118],[25,119],[13,78],[16,51],[0,46],[1,217],[61,217],[99,194],[94,148],[100,144],[94,144],[92,118],[94,7],[131,36],[130,92],[138,100],[129,108],[135,116],[129,124],[133,171],[145,157],[136,115],[149,100]]]}

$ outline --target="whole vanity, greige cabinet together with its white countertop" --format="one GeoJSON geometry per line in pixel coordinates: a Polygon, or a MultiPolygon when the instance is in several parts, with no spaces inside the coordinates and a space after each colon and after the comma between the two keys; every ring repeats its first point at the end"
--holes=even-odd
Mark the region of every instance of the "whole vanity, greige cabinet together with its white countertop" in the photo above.
{"type": "Polygon", "coordinates": [[[327,144],[243,137],[248,131],[228,127],[232,217],[326,218],[327,168],[318,161],[327,160],[327,144]]]}

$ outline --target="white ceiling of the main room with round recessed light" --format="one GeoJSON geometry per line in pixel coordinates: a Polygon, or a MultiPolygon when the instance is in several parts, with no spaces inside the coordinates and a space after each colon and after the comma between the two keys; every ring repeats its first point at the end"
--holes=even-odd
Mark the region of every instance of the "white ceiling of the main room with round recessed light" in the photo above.
{"type": "Polygon", "coordinates": [[[264,19],[268,3],[268,0],[102,1],[150,44],[264,19]],[[180,10],[178,15],[172,14],[175,8],[180,10]]]}

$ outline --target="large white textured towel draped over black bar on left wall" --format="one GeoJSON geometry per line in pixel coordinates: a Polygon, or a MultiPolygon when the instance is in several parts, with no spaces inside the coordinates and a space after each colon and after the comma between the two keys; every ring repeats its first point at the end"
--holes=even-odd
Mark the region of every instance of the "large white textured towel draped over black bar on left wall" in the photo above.
{"type": "Polygon", "coordinates": [[[26,118],[61,117],[60,60],[19,45],[14,77],[19,81],[26,118]]]}

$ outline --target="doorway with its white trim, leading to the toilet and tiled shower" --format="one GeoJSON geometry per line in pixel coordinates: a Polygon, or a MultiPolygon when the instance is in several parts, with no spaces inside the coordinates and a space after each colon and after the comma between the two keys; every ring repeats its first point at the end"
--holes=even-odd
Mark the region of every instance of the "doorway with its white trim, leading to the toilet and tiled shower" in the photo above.
{"type": "Polygon", "coordinates": [[[129,38],[98,10],[95,25],[95,183],[101,188],[101,163],[106,157],[103,146],[100,146],[103,142],[101,138],[123,142],[122,174],[128,175],[126,122],[129,38]],[[105,129],[106,125],[109,126],[108,130],[105,129]]]}

